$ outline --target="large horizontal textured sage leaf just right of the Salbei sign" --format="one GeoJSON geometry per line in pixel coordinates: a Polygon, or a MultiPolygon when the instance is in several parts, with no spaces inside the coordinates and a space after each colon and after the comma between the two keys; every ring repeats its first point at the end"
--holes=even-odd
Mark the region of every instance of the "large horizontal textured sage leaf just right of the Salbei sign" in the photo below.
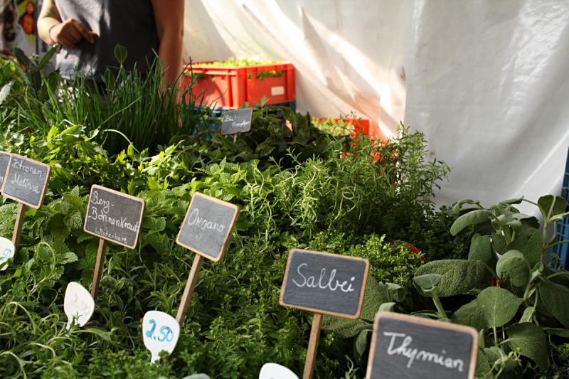
{"type": "Polygon", "coordinates": [[[442,275],[438,285],[440,297],[464,294],[490,284],[488,269],[479,260],[435,260],[419,267],[415,274],[442,275]]]}

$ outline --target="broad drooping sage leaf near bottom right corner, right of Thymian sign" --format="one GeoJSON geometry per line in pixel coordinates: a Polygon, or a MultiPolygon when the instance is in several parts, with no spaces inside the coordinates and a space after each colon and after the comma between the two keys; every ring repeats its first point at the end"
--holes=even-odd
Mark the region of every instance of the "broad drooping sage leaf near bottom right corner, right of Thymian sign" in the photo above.
{"type": "Polygon", "coordinates": [[[537,363],[541,371],[548,368],[546,333],[529,322],[510,326],[507,330],[508,343],[513,351],[537,363]]]}

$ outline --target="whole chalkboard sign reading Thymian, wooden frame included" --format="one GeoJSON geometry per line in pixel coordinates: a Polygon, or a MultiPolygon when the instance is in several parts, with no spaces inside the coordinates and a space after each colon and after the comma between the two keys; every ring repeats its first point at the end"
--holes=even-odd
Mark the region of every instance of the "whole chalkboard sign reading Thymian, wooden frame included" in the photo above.
{"type": "Polygon", "coordinates": [[[469,326],[378,312],[368,379],[473,379],[478,333],[469,326]]]}

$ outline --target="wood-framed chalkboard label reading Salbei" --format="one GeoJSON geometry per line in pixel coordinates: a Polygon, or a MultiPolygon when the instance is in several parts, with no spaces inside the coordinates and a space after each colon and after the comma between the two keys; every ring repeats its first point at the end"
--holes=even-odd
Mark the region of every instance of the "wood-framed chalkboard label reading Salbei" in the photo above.
{"type": "Polygon", "coordinates": [[[280,304],[357,319],[368,271],[369,262],[364,258],[290,250],[280,304]]]}

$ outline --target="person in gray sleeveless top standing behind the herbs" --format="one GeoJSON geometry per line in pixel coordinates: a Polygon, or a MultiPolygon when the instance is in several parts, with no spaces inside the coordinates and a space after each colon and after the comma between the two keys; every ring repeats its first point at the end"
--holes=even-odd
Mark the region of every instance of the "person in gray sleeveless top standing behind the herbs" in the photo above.
{"type": "Polygon", "coordinates": [[[44,0],[38,34],[60,46],[64,78],[94,77],[117,68],[115,46],[127,48],[124,68],[145,73],[156,53],[173,85],[182,70],[184,0],[44,0]]]}

